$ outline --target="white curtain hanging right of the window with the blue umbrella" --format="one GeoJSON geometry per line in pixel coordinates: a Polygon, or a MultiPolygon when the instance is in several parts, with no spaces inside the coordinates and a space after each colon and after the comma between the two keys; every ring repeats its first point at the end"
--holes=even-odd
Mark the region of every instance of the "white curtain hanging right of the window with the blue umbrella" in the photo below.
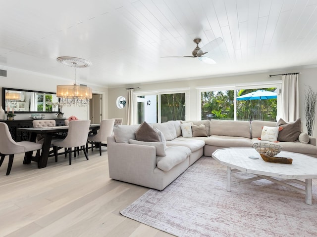
{"type": "Polygon", "coordinates": [[[282,76],[282,113],[285,121],[295,121],[299,114],[298,74],[282,76]]]}

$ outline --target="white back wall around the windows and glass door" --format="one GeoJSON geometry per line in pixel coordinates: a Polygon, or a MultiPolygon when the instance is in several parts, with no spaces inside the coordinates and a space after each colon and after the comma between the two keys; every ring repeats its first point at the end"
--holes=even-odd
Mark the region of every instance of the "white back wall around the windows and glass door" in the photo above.
{"type": "MultiPolygon", "coordinates": [[[[288,71],[270,71],[267,73],[254,73],[254,74],[246,74],[246,75],[239,75],[239,76],[227,76],[227,77],[215,77],[215,78],[206,78],[206,79],[183,79],[179,81],[173,82],[160,82],[160,83],[149,83],[149,84],[138,84],[140,89],[135,89],[137,92],[148,92],[148,91],[159,91],[163,89],[176,89],[176,88],[184,88],[189,87],[189,108],[190,113],[187,115],[188,120],[199,120],[199,116],[197,116],[198,105],[200,102],[198,101],[198,88],[201,87],[216,87],[216,86],[225,86],[225,85],[240,85],[240,84],[254,84],[260,82],[269,82],[269,81],[276,81],[280,80],[281,77],[269,77],[269,75],[274,74],[284,74],[284,73],[296,73],[300,72],[299,75],[299,90],[300,90],[300,114],[303,123],[303,130],[306,132],[306,119],[305,119],[305,112],[304,112],[304,101],[305,101],[305,90],[307,90],[307,86],[309,85],[312,87],[313,91],[317,92],[317,68],[304,68],[299,67],[294,70],[288,71]]],[[[133,85],[129,85],[129,87],[134,87],[133,85]]],[[[115,106],[115,100],[120,95],[127,95],[126,87],[120,88],[111,88],[108,91],[109,96],[109,117],[120,117],[125,118],[123,124],[126,124],[126,108],[119,110],[115,106]]],[[[316,125],[314,128],[314,135],[317,134],[316,125]]]]}

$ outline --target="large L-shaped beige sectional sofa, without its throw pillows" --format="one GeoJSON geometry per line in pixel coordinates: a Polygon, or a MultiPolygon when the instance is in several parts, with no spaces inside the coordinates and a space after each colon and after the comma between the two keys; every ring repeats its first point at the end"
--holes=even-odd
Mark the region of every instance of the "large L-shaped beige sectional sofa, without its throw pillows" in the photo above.
{"type": "MultiPolygon", "coordinates": [[[[181,121],[153,123],[163,134],[163,141],[149,143],[135,141],[139,125],[115,125],[114,135],[107,139],[109,176],[112,179],[163,190],[203,155],[221,148],[252,147],[259,141],[262,127],[274,127],[270,121],[199,120],[185,121],[202,125],[204,137],[183,137],[181,121]],[[132,144],[133,143],[133,144],[132,144]],[[162,156],[162,147],[165,156],[162,156]]],[[[266,141],[265,141],[266,142],[266,141]]],[[[270,142],[267,142],[270,143],[270,142]]],[[[276,144],[276,143],[275,143],[276,144]]],[[[316,138],[308,144],[279,142],[283,151],[317,157],[316,138]]]]}

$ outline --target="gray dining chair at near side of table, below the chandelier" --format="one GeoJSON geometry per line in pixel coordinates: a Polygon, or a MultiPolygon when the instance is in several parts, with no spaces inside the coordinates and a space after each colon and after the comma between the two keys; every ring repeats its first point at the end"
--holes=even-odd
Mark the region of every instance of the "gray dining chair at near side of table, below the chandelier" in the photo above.
{"type": "Polygon", "coordinates": [[[58,139],[53,142],[55,160],[57,160],[57,150],[67,148],[69,154],[69,164],[71,164],[71,153],[74,148],[75,154],[79,147],[82,147],[86,159],[89,159],[86,152],[86,142],[89,133],[90,120],[73,120],[69,121],[67,136],[64,139],[58,139]]]}

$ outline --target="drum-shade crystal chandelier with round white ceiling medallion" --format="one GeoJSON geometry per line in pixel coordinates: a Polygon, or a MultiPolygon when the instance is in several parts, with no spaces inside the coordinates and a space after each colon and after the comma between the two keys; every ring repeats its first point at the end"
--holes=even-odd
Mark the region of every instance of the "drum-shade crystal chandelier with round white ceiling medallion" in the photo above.
{"type": "Polygon", "coordinates": [[[91,65],[91,62],[75,57],[58,57],[57,61],[73,67],[75,74],[75,82],[73,85],[57,85],[56,96],[59,98],[59,105],[61,106],[86,106],[89,100],[93,98],[92,89],[86,85],[77,84],[76,68],[86,68],[91,65]]]}

